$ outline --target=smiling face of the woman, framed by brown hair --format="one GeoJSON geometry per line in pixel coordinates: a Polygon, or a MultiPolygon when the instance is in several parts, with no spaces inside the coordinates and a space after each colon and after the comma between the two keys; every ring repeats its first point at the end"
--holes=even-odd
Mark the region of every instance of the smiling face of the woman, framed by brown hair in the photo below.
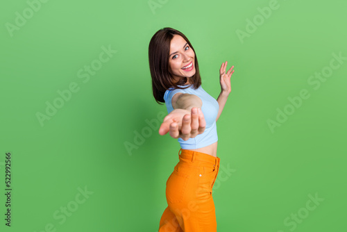
{"type": "Polygon", "coordinates": [[[194,76],[195,53],[185,39],[180,35],[174,35],[170,43],[169,72],[174,76],[175,83],[180,79],[194,76]]]}

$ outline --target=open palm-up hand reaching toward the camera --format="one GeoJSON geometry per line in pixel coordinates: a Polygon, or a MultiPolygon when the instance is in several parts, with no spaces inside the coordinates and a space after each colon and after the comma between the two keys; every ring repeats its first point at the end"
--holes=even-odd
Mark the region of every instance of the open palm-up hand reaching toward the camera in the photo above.
{"type": "Polygon", "coordinates": [[[193,107],[191,111],[177,108],[164,117],[159,134],[165,135],[169,132],[172,138],[182,138],[186,141],[203,133],[205,127],[205,117],[201,108],[193,107]]]}

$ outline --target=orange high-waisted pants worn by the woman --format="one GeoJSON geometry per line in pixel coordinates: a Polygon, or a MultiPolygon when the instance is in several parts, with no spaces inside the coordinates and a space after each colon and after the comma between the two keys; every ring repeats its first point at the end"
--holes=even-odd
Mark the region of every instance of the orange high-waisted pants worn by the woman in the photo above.
{"type": "Polygon", "coordinates": [[[212,187],[219,171],[219,158],[180,149],[179,162],[167,179],[167,208],[159,232],[215,232],[216,213],[212,187]]]}

